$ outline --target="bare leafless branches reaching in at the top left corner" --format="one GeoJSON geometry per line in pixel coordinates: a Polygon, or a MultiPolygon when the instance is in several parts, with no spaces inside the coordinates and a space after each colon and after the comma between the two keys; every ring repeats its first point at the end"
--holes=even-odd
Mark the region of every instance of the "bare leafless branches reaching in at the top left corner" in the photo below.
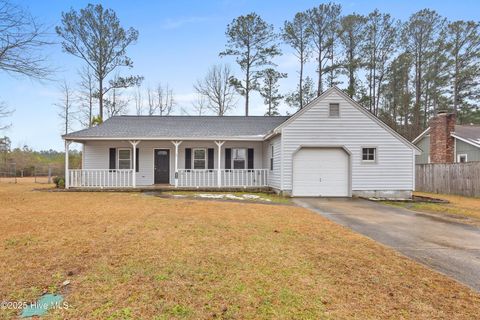
{"type": "Polygon", "coordinates": [[[0,0],[0,69],[12,74],[43,79],[51,73],[40,49],[46,40],[46,28],[25,9],[0,0]]]}

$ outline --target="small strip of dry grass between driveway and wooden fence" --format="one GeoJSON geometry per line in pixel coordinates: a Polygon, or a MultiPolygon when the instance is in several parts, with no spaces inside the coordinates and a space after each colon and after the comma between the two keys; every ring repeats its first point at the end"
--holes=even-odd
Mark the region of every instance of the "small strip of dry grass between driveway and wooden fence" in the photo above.
{"type": "Polygon", "coordinates": [[[426,192],[415,192],[416,196],[429,197],[447,201],[433,202],[387,202],[413,211],[441,215],[444,218],[463,223],[480,225],[480,198],[462,197],[426,192]]]}

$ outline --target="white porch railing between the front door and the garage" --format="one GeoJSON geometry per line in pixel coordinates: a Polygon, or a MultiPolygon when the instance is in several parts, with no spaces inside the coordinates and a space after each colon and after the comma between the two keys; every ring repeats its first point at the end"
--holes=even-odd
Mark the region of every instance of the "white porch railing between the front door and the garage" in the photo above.
{"type": "Polygon", "coordinates": [[[179,169],[179,187],[266,187],[268,169],[220,170],[220,185],[217,169],[179,169]]]}

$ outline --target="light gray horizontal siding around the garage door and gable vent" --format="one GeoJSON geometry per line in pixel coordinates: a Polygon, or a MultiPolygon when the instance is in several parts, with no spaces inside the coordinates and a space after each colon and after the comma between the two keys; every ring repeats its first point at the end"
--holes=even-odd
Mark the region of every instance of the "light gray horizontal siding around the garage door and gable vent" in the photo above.
{"type": "Polygon", "coordinates": [[[283,189],[292,189],[292,159],[302,145],[341,145],[351,153],[352,190],[413,190],[414,150],[332,91],[282,129],[283,189]],[[340,117],[329,118],[329,104],[340,117]],[[377,161],[362,163],[362,147],[376,147],[377,161]]]}

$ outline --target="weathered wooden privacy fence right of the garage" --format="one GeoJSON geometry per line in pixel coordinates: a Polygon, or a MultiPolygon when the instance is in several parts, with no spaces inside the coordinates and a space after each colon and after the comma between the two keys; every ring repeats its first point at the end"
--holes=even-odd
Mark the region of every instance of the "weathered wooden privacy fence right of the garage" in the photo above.
{"type": "Polygon", "coordinates": [[[415,189],[480,197],[480,162],[417,164],[415,189]]]}

